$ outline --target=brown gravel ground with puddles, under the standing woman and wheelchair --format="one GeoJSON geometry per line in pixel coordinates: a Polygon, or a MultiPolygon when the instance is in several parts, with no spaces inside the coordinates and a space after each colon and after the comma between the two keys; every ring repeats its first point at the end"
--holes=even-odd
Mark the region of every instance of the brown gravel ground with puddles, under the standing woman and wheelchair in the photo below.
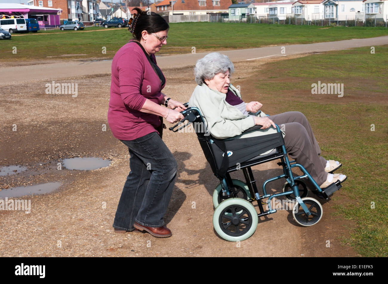
{"type": "MultiPolygon", "coordinates": [[[[260,65],[282,59],[272,57],[235,64],[233,78],[244,84],[249,94],[244,97],[246,100],[258,95],[252,77],[260,65]]],[[[168,84],[164,92],[186,102],[195,87],[192,70],[192,66],[165,67],[168,84]]],[[[51,71],[54,74],[55,69],[51,71]]],[[[31,199],[29,214],[0,211],[1,255],[357,256],[352,248],[341,246],[338,240],[348,234],[347,227],[353,224],[331,215],[332,206],[345,201],[341,191],[328,202],[322,202],[324,215],[312,227],[297,225],[291,212],[283,210],[263,217],[255,234],[240,244],[220,239],[212,224],[211,194],[217,179],[194,133],[165,131],[163,137],[178,162],[178,178],[165,216],[173,236],[158,239],[140,232],[115,234],[112,223],[129,172],[129,155],[127,148],[112,136],[107,124],[110,75],[55,80],[55,83],[78,83],[76,98],[45,94],[47,81],[45,78],[2,86],[2,93],[9,95],[0,103],[4,117],[0,166],[25,165],[28,170],[0,177],[0,188],[48,181],[62,181],[62,186],[52,194],[28,197],[31,199]],[[17,124],[17,131],[12,131],[13,124],[17,124]],[[102,124],[107,125],[107,131],[102,131],[102,124]],[[58,161],[78,156],[109,158],[112,163],[92,171],[57,170],[58,161]],[[192,208],[193,201],[195,208],[192,208]],[[102,206],[104,202],[106,208],[102,206]],[[329,248],[327,240],[331,243],[329,248]]],[[[278,112],[275,106],[262,103],[265,111],[278,112]]],[[[276,162],[253,169],[258,184],[281,173],[276,162]]],[[[233,177],[243,179],[239,172],[233,177]]],[[[279,192],[282,182],[270,185],[270,191],[279,192]]]]}

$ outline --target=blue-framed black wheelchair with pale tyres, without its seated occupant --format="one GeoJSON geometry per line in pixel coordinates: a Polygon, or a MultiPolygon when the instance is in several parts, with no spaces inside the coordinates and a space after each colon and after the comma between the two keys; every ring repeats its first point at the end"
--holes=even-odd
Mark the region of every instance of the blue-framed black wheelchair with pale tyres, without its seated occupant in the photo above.
{"type": "MultiPolygon", "coordinates": [[[[185,107],[188,107],[188,103],[185,107]]],[[[321,189],[302,165],[297,164],[296,161],[289,161],[282,132],[277,125],[277,133],[274,134],[251,138],[216,139],[207,129],[204,129],[206,124],[198,108],[190,107],[181,113],[184,119],[169,129],[177,132],[190,124],[194,125],[194,131],[206,160],[220,181],[213,193],[215,207],[213,225],[217,234],[227,241],[242,241],[249,238],[256,231],[259,217],[277,212],[272,208],[271,200],[280,196],[285,196],[292,201],[293,218],[298,224],[302,226],[317,224],[322,218],[322,205],[315,198],[307,197],[308,189],[303,181],[305,178],[309,179],[315,187],[311,190],[312,193],[322,199],[327,200],[341,188],[341,182],[336,181],[321,189]],[[270,153],[266,153],[268,151],[270,153]],[[263,153],[266,154],[263,155],[263,153]],[[263,194],[260,195],[251,167],[279,159],[280,162],[277,164],[282,166],[283,174],[264,181],[263,194]],[[301,176],[293,175],[291,170],[295,167],[301,170],[303,173],[301,176]],[[237,170],[242,170],[246,182],[230,177],[230,173],[237,170]],[[267,193],[266,186],[269,182],[283,178],[286,181],[281,193],[267,193]],[[268,198],[267,202],[263,203],[265,198],[268,198]],[[253,202],[257,202],[260,213],[257,213],[253,202]],[[267,205],[266,211],[263,204],[267,205]]],[[[256,131],[261,127],[251,127],[242,134],[256,131]]]]}

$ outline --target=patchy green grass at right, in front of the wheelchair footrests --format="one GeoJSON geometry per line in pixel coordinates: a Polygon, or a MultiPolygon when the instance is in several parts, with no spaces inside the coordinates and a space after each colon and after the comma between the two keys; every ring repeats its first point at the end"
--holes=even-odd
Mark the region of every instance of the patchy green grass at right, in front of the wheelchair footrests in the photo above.
{"type": "Polygon", "coordinates": [[[341,242],[362,256],[388,256],[387,66],[388,46],[376,46],[375,54],[357,48],[271,62],[255,81],[279,112],[303,112],[322,155],[343,163],[338,172],[348,176],[340,189],[346,198],[334,193],[336,215],[356,228],[346,228],[350,237],[341,242]],[[319,80],[343,83],[343,97],[311,94],[319,80]]]}

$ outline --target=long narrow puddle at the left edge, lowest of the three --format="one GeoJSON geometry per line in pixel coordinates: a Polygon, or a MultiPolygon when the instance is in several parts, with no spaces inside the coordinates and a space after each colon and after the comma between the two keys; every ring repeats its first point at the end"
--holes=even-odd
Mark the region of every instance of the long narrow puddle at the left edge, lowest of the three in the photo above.
{"type": "Polygon", "coordinates": [[[18,186],[16,188],[2,189],[2,191],[0,191],[0,198],[49,193],[59,188],[61,184],[62,182],[56,181],[31,186],[18,186]]]}

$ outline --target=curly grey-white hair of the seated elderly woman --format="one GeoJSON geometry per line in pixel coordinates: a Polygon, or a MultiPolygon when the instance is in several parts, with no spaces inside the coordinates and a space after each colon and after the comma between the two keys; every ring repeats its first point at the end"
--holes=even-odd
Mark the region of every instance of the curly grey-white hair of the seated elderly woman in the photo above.
{"type": "Polygon", "coordinates": [[[229,57],[218,52],[209,53],[197,60],[194,68],[195,81],[201,86],[204,83],[204,79],[211,80],[214,75],[225,73],[227,70],[229,70],[230,74],[234,72],[234,65],[229,60],[229,57]]]}

